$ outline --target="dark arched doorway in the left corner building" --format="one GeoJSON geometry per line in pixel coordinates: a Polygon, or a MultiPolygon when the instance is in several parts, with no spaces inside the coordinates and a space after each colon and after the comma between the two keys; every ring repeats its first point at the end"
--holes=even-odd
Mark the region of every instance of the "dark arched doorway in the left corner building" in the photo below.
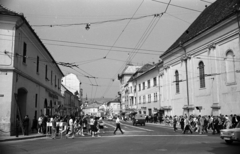
{"type": "Polygon", "coordinates": [[[17,93],[17,104],[20,111],[20,114],[17,111],[17,115],[21,116],[23,119],[27,115],[27,90],[24,88],[19,88],[17,93]]]}

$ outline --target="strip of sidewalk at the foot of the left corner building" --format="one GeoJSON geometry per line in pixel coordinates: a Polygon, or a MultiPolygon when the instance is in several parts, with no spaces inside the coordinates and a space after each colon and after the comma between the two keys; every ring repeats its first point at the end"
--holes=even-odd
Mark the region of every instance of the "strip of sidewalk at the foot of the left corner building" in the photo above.
{"type": "Polygon", "coordinates": [[[0,136],[0,142],[6,142],[6,141],[17,141],[17,140],[27,140],[27,139],[33,139],[33,138],[41,138],[46,137],[44,134],[29,134],[29,135],[19,135],[16,136],[0,136]]]}

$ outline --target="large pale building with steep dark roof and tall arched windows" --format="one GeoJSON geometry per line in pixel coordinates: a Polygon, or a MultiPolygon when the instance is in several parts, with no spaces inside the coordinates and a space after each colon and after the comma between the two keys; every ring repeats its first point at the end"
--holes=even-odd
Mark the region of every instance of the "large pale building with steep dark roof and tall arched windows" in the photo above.
{"type": "Polygon", "coordinates": [[[160,58],[165,115],[240,111],[239,3],[217,0],[160,58]]]}

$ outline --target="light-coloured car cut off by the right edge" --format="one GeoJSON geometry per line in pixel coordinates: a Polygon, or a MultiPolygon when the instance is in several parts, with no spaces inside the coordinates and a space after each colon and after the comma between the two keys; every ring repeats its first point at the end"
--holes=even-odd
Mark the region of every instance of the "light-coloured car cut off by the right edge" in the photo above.
{"type": "Polygon", "coordinates": [[[227,144],[232,144],[233,141],[240,141],[240,122],[235,128],[222,129],[220,137],[225,140],[227,144]]]}

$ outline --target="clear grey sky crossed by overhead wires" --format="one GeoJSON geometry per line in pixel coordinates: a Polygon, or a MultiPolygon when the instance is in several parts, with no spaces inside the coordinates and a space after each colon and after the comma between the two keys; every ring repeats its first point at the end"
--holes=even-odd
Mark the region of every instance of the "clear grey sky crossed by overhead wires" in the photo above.
{"type": "Polygon", "coordinates": [[[120,90],[117,76],[126,63],[157,63],[214,1],[0,0],[0,4],[24,14],[56,62],[78,65],[59,67],[65,75],[76,74],[83,97],[94,99],[115,98],[120,90]]]}

